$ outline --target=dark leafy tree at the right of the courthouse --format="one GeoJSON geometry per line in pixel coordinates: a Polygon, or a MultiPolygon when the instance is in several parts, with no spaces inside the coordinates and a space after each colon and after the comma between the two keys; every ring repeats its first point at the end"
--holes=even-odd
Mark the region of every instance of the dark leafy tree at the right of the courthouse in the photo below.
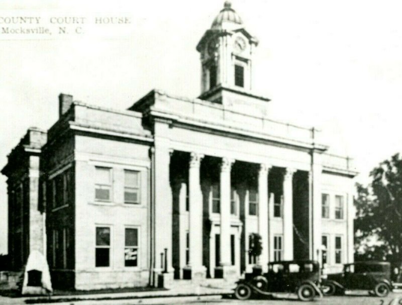
{"type": "Polygon", "coordinates": [[[402,262],[402,159],[399,154],[374,168],[368,187],[356,184],[356,259],[402,262]],[[367,245],[368,238],[377,243],[367,245]]]}

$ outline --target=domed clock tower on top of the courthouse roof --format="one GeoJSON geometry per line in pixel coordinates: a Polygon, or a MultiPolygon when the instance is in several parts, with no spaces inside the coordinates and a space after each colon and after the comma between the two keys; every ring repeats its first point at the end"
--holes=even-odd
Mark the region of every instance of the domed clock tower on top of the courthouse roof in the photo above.
{"type": "MultiPolygon", "coordinates": [[[[252,59],[258,40],[243,25],[240,16],[226,1],[196,49],[201,59],[200,99],[223,105],[252,94],[252,59]]],[[[260,97],[259,99],[269,99],[260,97]]]]}

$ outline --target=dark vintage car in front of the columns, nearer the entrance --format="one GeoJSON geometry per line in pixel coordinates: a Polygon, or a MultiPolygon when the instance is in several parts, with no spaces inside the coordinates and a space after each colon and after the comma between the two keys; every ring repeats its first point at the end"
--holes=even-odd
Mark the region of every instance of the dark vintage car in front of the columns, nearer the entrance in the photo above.
{"type": "Polygon", "coordinates": [[[322,296],[319,288],[320,265],[316,261],[277,261],[268,264],[268,272],[246,273],[237,282],[235,296],[249,299],[253,294],[271,296],[272,293],[296,293],[300,300],[310,301],[322,296]]]}

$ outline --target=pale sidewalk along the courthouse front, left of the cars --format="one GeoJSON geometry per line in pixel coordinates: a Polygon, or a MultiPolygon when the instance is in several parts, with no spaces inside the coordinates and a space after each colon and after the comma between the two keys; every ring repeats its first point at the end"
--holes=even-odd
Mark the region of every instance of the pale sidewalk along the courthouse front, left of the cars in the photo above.
{"type": "MultiPolygon", "coordinates": [[[[141,292],[122,292],[122,293],[98,293],[98,294],[71,294],[71,295],[52,295],[48,296],[27,296],[27,297],[5,297],[0,296],[0,304],[2,305],[19,305],[19,304],[51,304],[66,302],[81,302],[96,300],[99,303],[101,300],[130,300],[130,299],[150,299],[150,298],[163,298],[163,297],[202,297],[203,300],[217,299],[223,294],[231,294],[233,290],[232,285],[221,283],[209,284],[203,283],[201,285],[192,284],[190,281],[179,281],[174,284],[174,287],[169,290],[157,291],[141,291],[141,292]]],[[[91,302],[84,302],[91,303],[91,302]]],[[[141,303],[145,303],[142,301],[141,303]]],[[[154,302],[152,302],[154,303],[154,302]]]]}

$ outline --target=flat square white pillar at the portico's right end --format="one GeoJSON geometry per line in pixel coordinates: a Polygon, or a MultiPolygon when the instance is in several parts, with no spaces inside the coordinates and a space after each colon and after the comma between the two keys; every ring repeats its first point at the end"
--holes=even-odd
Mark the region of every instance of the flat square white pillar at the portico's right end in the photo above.
{"type": "Polygon", "coordinates": [[[321,230],[321,154],[313,152],[312,159],[312,237],[313,253],[312,259],[320,261],[322,248],[322,230],[321,230]]]}

